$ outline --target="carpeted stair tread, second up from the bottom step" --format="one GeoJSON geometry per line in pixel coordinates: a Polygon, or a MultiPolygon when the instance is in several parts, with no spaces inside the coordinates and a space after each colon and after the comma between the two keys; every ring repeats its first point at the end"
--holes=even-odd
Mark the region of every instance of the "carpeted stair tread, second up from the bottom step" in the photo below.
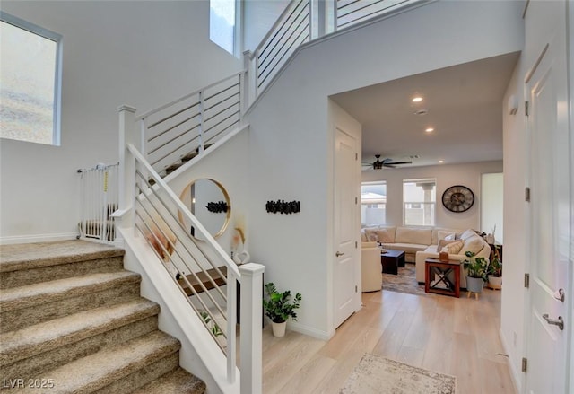
{"type": "MultiPolygon", "coordinates": [[[[178,339],[161,331],[154,331],[113,349],[105,349],[67,363],[43,373],[36,379],[53,381],[54,387],[49,390],[51,394],[89,393],[124,379],[147,365],[161,361],[168,355],[178,352],[179,347],[178,339]]],[[[14,392],[32,393],[38,390],[24,388],[14,392]]]]}

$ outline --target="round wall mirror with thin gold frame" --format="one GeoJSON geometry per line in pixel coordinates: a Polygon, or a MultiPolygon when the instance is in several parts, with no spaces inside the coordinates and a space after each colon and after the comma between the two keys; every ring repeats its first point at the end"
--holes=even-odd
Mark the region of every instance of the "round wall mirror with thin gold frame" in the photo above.
{"type": "MultiPolygon", "coordinates": [[[[197,179],[183,189],[179,198],[213,238],[222,235],[230,222],[231,205],[227,190],[221,183],[213,179],[197,179]]],[[[178,216],[179,222],[193,237],[205,239],[181,212],[178,216]]]]}

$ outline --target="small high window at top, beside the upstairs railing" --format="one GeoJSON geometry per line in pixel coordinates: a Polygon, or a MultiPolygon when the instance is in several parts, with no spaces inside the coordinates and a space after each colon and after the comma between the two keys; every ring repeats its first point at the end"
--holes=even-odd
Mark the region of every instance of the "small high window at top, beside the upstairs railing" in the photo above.
{"type": "Polygon", "coordinates": [[[235,55],[236,0],[209,1],[209,39],[235,55]]]}

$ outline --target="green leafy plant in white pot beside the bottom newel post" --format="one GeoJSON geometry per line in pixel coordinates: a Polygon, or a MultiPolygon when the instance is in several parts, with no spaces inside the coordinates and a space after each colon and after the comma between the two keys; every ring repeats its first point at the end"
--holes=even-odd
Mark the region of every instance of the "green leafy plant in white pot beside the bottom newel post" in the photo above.
{"type": "Polygon", "coordinates": [[[291,301],[291,291],[280,293],[273,282],[265,285],[265,293],[268,297],[268,300],[263,300],[265,316],[272,321],[274,337],[283,337],[287,319],[297,320],[297,313],[294,310],[300,306],[301,294],[296,293],[291,301]]]}

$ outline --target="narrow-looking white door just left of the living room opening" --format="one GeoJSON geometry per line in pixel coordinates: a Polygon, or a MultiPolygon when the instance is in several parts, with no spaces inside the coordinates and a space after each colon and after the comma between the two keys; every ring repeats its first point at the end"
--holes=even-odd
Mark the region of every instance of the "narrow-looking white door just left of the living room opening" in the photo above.
{"type": "Polygon", "coordinates": [[[355,311],[354,298],[358,292],[355,266],[358,264],[355,241],[358,185],[356,179],[357,140],[336,128],[335,131],[335,267],[334,322],[335,328],[355,311]]]}

